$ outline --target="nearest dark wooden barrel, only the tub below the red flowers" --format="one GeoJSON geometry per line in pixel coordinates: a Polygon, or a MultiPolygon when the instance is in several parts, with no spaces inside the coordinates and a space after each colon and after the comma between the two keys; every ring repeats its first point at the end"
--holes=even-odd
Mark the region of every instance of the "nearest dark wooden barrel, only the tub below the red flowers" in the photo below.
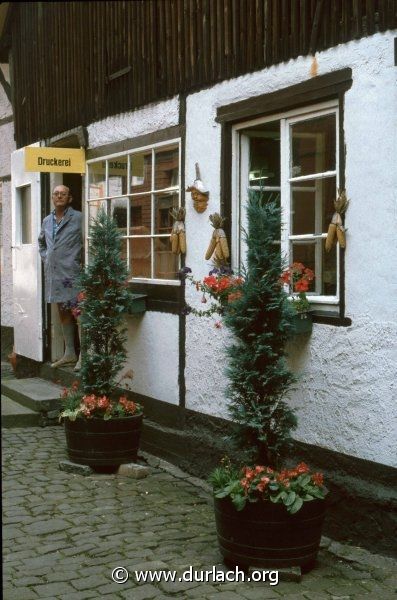
{"type": "Polygon", "coordinates": [[[247,503],[237,511],[229,498],[214,499],[218,542],[228,565],[313,567],[325,514],[324,500],[305,502],[290,515],[282,504],[247,503]]]}

